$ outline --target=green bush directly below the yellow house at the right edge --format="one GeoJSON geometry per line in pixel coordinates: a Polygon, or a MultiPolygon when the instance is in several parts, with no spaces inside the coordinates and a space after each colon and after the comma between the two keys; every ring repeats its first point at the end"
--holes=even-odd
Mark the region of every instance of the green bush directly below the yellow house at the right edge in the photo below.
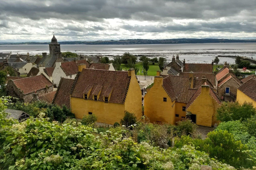
{"type": "Polygon", "coordinates": [[[239,105],[237,102],[223,102],[217,109],[217,119],[221,122],[227,121],[244,121],[256,114],[256,109],[252,103],[239,105]]]}

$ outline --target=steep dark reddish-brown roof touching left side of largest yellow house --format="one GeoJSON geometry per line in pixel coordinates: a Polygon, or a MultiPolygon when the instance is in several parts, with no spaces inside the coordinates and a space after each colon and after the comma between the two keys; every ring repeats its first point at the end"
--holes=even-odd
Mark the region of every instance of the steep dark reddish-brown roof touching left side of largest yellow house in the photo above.
{"type": "Polygon", "coordinates": [[[73,79],[64,79],[60,80],[59,87],[57,89],[56,95],[52,101],[53,104],[58,106],[67,106],[70,108],[70,92],[73,86],[73,79]]]}

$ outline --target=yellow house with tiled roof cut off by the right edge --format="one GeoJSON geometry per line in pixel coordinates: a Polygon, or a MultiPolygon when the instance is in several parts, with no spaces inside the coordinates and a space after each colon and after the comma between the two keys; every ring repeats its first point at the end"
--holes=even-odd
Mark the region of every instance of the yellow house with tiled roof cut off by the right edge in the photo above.
{"type": "Polygon", "coordinates": [[[246,81],[244,84],[238,87],[236,101],[239,104],[244,102],[252,103],[256,108],[256,80],[252,77],[250,80],[246,81]]]}

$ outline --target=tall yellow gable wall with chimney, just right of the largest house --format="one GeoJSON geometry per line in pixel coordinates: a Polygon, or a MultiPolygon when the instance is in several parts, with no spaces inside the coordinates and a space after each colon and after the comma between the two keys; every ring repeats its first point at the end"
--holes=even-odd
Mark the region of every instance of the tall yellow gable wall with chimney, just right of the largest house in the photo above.
{"type": "Polygon", "coordinates": [[[144,114],[149,117],[151,123],[175,124],[175,100],[171,100],[162,84],[163,78],[155,77],[154,86],[144,98],[144,114]],[[167,101],[163,101],[164,97],[167,101]]]}

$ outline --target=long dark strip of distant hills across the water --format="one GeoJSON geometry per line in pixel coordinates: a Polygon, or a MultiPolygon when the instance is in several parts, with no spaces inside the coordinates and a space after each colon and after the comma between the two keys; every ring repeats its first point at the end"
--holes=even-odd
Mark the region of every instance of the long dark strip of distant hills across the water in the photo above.
{"type": "MultiPolygon", "coordinates": [[[[49,44],[50,42],[0,43],[0,45],[49,44]]],[[[62,41],[59,44],[84,45],[132,45],[132,44],[196,44],[196,43],[256,43],[256,39],[214,39],[214,38],[178,38],[178,39],[121,39],[106,41],[62,41]]]]}

